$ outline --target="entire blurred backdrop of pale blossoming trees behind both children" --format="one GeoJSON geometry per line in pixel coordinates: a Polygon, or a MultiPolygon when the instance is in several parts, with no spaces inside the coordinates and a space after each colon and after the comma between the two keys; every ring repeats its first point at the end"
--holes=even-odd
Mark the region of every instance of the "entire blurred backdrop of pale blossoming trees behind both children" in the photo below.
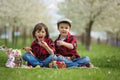
{"type": "Polygon", "coordinates": [[[119,13],[120,0],[0,0],[0,45],[11,43],[16,48],[19,39],[20,44],[28,45],[38,22],[44,22],[55,34],[51,37],[56,37],[57,20],[68,18],[71,32],[87,50],[91,50],[91,42],[120,46],[119,13]],[[93,38],[93,32],[104,32],[106,38],[93,38]]]}

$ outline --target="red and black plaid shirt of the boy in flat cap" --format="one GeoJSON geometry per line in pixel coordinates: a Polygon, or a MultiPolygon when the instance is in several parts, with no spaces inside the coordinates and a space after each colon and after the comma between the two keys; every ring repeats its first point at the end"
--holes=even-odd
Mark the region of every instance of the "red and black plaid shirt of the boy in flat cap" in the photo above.
{"type": "Polygon", "coordinates": [[[56,49],[56,52],[55,54],[57,55],[62,55],[62,56],[65,56],[65,57],[72,57],[72,56],[75,56],[76,58],[79,58],[79,54],[76,50],[77,48],[77,41],[76,41],[76,37],[71,35],[70,33],[68,33],[66,39],[64,40],[65,42],[67,43],[71,43],[74,48],[73,49],[69,49],[65,46],[57,46],[57,41],[60,40],[60,35],[59,37],[55,40],[55,49],[56,49]]]}

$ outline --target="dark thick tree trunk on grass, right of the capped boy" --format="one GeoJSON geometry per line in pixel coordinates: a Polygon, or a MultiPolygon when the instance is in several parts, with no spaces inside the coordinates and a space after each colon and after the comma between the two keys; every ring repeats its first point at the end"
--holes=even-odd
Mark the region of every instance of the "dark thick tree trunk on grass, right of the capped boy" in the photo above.
{"type": "Polygon", "coordinates": [[[92,29],[92,25],[93,25],[93,22],[94,21],[90,21],[88,24],[87,24],[87,28],[86,28],[86,44],[85,44],[85,47],[87,50],[91,50],[91,29],[92,29]]]}

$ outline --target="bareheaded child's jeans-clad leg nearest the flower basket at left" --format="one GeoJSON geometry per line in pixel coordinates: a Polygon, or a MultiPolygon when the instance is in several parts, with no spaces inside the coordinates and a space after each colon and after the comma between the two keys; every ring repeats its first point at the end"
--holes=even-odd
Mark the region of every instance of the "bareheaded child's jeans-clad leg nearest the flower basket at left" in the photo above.
{"type": "Polygon", "coordinates": [[[36,65],[43,66],[43,64],[40,63],[40,61],[37,58],[35,58],[34,56],[32,56],[30,53],[25,53],[23,55],[23,60],[30,63],[33,67],[35,67],[36,65]]]}

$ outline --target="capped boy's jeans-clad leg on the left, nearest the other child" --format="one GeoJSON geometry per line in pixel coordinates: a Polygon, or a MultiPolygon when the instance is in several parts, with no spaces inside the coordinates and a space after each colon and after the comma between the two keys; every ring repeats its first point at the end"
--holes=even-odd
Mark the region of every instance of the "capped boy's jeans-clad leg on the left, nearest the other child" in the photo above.
{"type": "Polygon", "coordinates": [[[77,67],[78,66],[78,63],[74,63],[73,61],[71,60],[68,60],[66,57],[64,56],[58,56],[57,58],[58,61],[64,61],[65,64],[67,65],[67,67],[77,67]]]}

